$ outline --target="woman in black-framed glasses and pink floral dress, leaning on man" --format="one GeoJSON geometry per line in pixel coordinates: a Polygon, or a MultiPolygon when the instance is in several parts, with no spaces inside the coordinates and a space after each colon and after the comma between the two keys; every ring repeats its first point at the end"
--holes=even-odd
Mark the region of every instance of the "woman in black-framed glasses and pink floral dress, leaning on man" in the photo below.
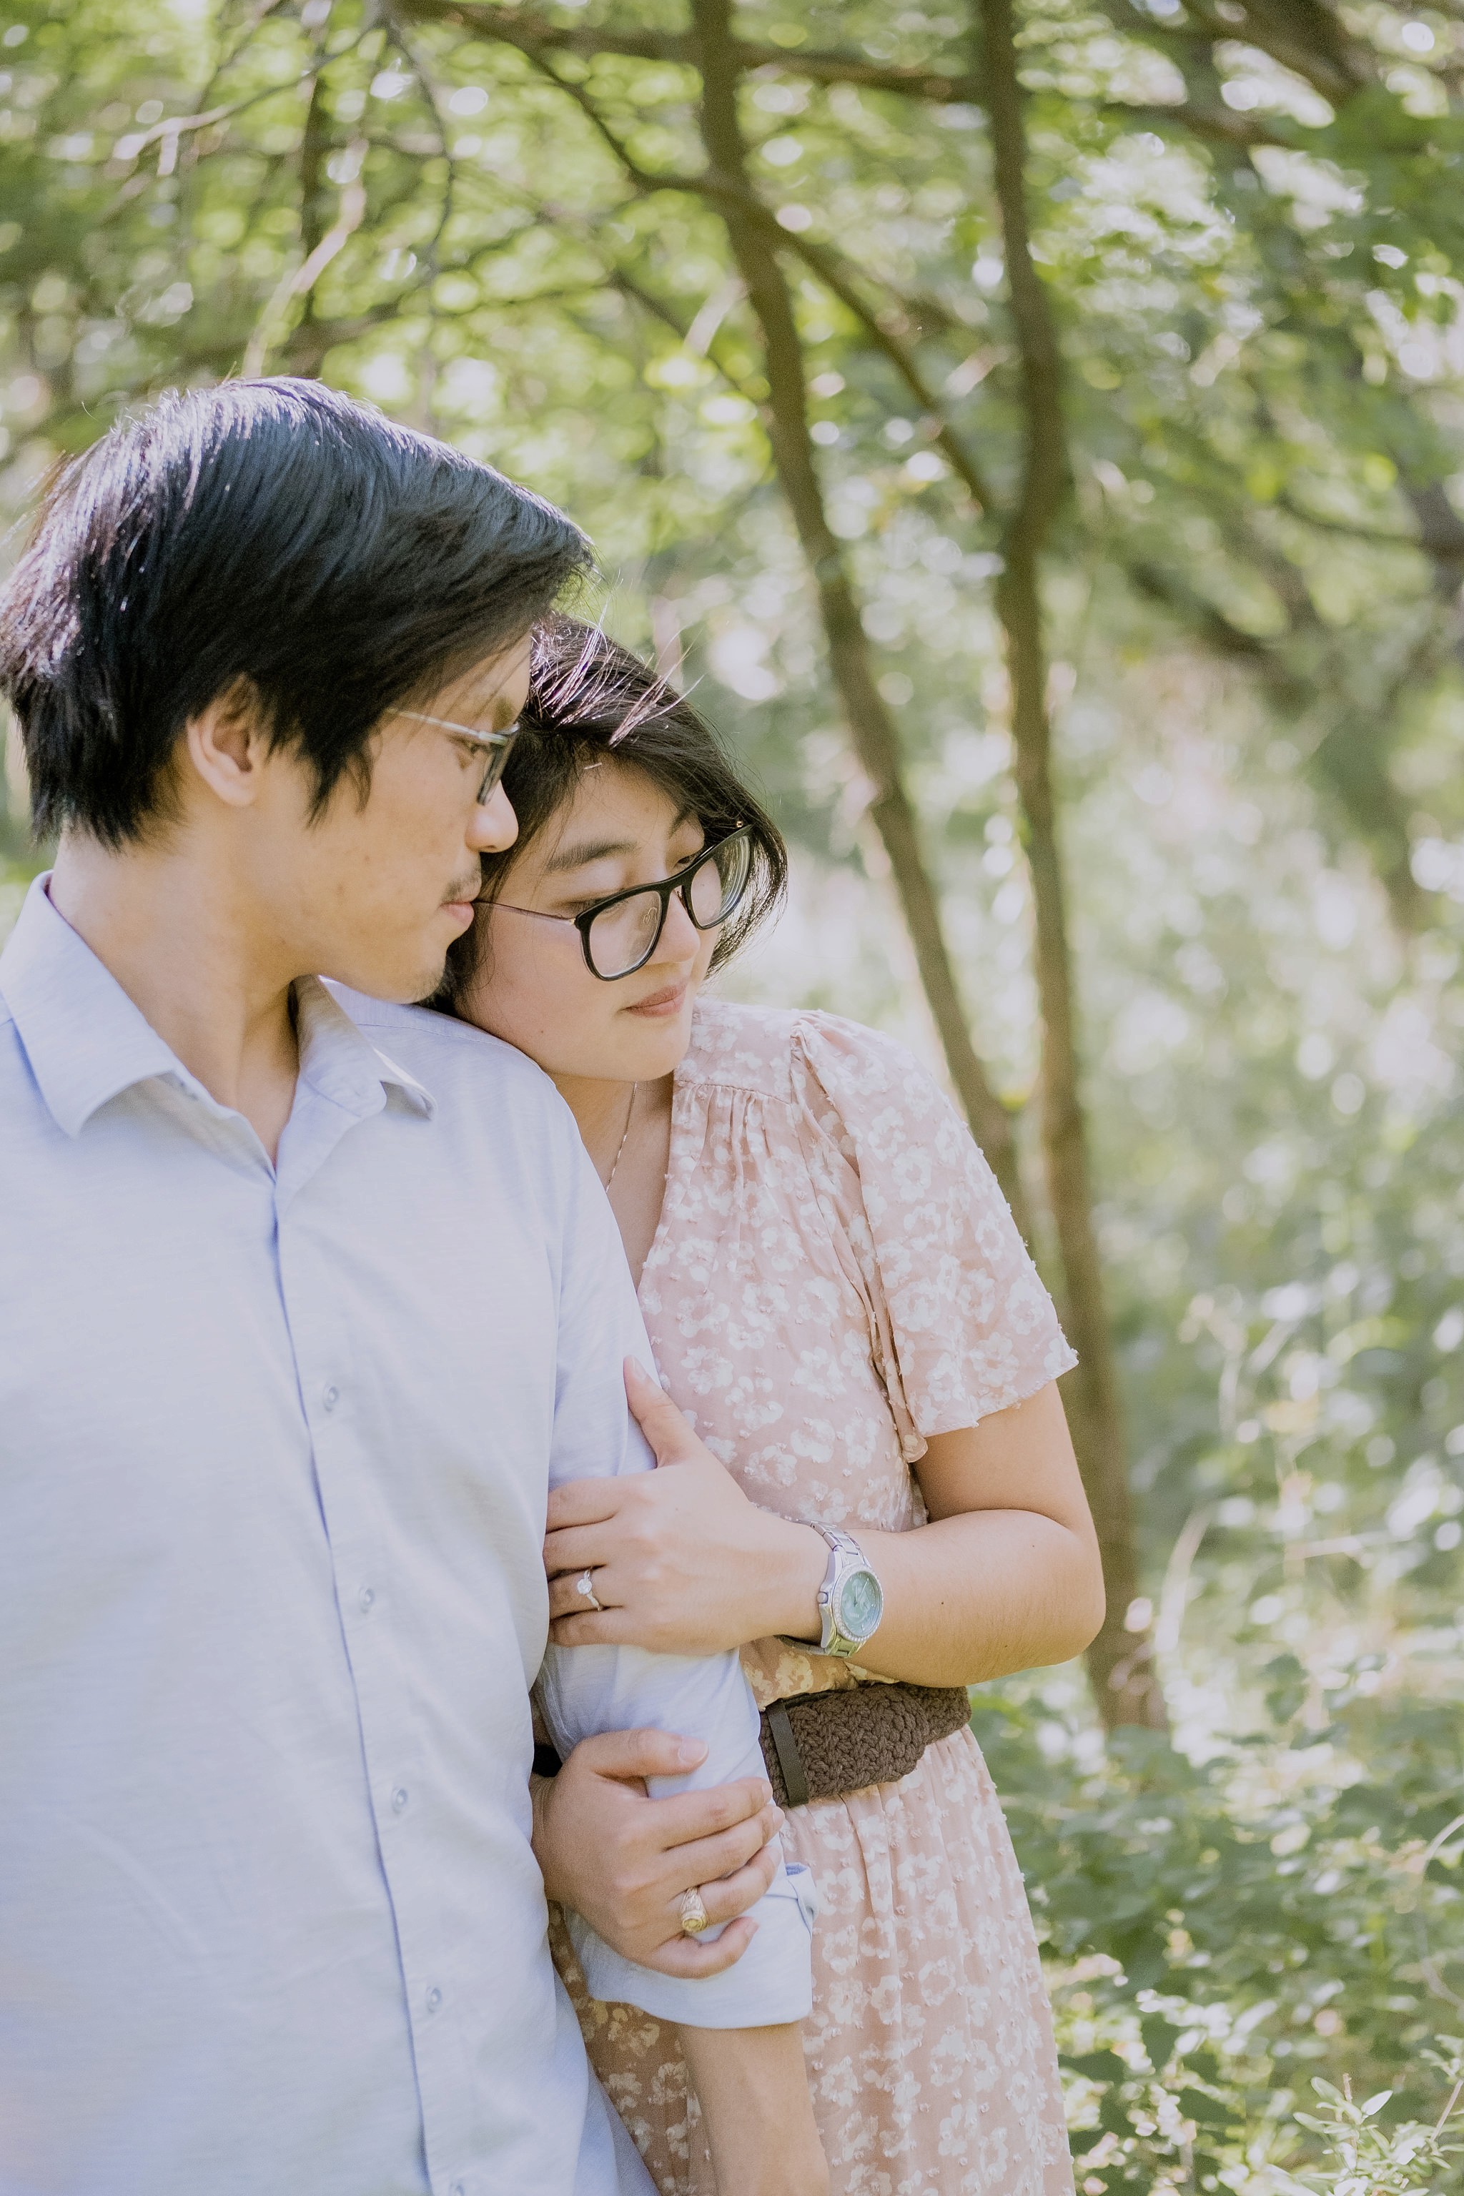
{"type": "MultiPolygon", "coordinates": [[[[1036,1939],[964,1687],[1065,1660],[1102,1616],[1073,1355],[909,1054],[698,997],[786,856],[689,705],[555,621],[505,786],[518,843],[485,861],[443,1004],[571,1105],[663,1383],[727,1465],[551,1498],[555,1638],[744,1647],[821,1897],[806,2051],[836,2196],[1058,2196],[1036,1939]]],[[[663,1456],[656,1388],[628,1381],[663,1456]]],[[[562,1932],[558,1959],[663,2196],[709,2196],[669,2029],[590,2003],[562,1932]]]]}

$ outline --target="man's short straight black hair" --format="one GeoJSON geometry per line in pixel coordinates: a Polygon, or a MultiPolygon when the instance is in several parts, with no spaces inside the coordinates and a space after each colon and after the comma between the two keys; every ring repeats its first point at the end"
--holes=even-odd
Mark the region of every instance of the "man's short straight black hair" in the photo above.
{"type": "Polygon", "coordinates": [[[318,382],[169,393],[50,488],[0,595],[37,834],[167,819],[191,716],[239,692],[316,782],[382,714],[522,639],[588,545],[553,505],[318,382]]]}

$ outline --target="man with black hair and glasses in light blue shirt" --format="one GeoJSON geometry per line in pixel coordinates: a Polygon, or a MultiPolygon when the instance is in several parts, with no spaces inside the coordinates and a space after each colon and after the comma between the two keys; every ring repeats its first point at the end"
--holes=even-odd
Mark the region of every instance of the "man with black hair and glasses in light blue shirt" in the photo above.
{"type": "MultiPolygon", "coordinates": [[[[59,830],[0,955],[4,2196],[650,2187],[529,1807],[549,1480],[645,1465],[615,1223],[525,1058],[441,1023],[426,1087],[318,982],[435,986],[584,560],[259,382],[108,435],[0,604],[59,830]]],[[[806,2196],[808,1924],[735,1658],[551,1678],[558,1860],[597,1772],[700,1761],[617,1792],[586,1968],[685,2025],[727,2196],[806,2196]]]]}

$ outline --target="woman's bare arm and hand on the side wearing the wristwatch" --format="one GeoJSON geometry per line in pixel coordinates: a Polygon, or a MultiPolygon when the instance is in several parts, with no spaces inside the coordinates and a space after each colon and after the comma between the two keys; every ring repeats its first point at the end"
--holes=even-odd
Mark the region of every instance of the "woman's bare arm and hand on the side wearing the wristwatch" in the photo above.
{"type": "MultiPolygon", "coordinates": [[[[823,1539],[746,1500],[667,1394],[626,1368],[658,1469],[553,1491],[544,1564],[558,1643],[634,1640],[713,1654],[784,1634],[819,1638],[823,1539]],[[604,1614],[573,1614],[595,1570],[604,1614]]],[[[860,1669],[911,1684],[977,1684],[1080,1654],[1104,1614],[1097,1539],[1056,1381],[981,1425],[935,1434],[915,1467],[931,1524],[854,1537],[885,1588],[860,1669]]]]}

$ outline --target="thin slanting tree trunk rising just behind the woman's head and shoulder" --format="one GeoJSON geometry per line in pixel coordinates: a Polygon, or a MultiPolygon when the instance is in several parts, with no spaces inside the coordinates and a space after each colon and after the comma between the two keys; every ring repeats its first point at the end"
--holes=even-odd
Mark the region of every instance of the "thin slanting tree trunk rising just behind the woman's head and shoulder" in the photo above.
{"type": "MultiPolygon", "coordinates": [[[[702,61],[702,136],[713,171],[740,191],[751,191],[746,147],[737,119],[737,51],[731,37],[729,0],[694,0],[702,61]]],[[[874,681],[869,641],[849,582],[843,549],[830,529],[823,490],[808,435],[803,349],[792,299],[764,226],[737,213],[722,213],[727,235],[746,283],[748,303],[762,327],[768,404],[766,424],[777,477],[819,591],[819,610],[830,650],[830,670],[843,701],[845,722],[858,764],[874,786],[869,815],[880,832],[889,867],[915,946],[920,982],[935,1017],[946,1067],[966,1109],[972,1135],[1012,1206],[1023,1236],[1032,1239],[1027,1201],[1016,1164],[1012,1118],[992,1091],[970,1041],[950,949],[939,918],[939,900],[920,848],[920,824],[900,769],[900,736],[874,681]]]]}

